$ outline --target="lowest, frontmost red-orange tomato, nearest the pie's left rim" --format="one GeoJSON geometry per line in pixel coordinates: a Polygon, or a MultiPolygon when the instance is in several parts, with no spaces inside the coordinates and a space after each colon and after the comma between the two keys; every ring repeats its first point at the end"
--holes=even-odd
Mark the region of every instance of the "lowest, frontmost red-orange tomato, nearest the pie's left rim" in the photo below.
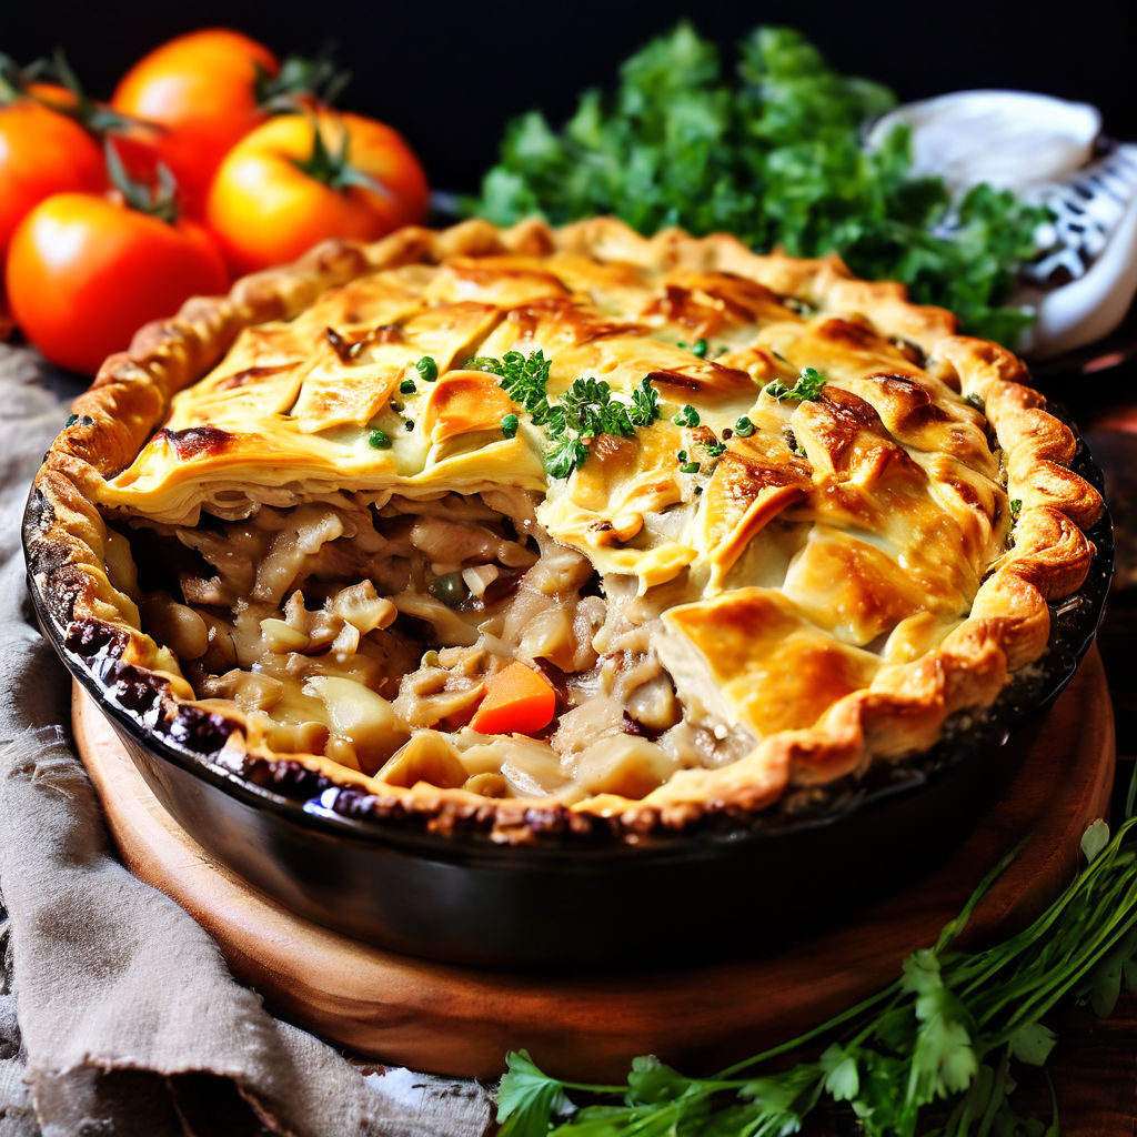
{"type": "Polygon", "coordinates": [[[8,250],[16,323],[52,362],[94,374],[144,323],[191,296],[223,292],[208,234],[93,193],[59,193],[20,223],[8,250]]]}

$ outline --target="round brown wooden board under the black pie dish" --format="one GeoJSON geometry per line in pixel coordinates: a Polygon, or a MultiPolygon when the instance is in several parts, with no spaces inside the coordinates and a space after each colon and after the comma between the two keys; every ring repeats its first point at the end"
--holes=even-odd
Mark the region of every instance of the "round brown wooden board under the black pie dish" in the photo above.
{"type": "MultiPolygon", "coordinates": [[[[309,923],[182,832],[78,688],[74,728],[125,863],[193,915],[273,1011],[359,1055],[418,1070],[496,1077],[506,1051],[528,1047],[551,1072],[601,1081],[622,1080],[642,1053],[709,1071],[853,1005],[895,979],[911,951],[932,944],[987,870],[1032,831],[966,938],[1016,930],[1071,879],[1086,825],[1107,812],[1115,757],[1095,649],[1004,799],[922,883],[766,958],[663,973],[630,960],[619,976],[549,977],[424,962],[309,923]]],[[[762,903],[761,881],[745,902],[762,903]]],[[[675,919],[684,919],[682,896],[675,919]]]]}

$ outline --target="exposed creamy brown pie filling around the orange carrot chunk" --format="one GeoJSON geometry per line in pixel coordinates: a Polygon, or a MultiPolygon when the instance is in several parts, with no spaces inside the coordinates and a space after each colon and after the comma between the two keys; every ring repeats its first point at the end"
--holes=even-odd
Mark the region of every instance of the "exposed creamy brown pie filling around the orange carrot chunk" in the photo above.
{"type": "Polygon", "coordinates": [[[485,797],[640,798],[754,744],[684,716],[656,652],[659,605],[554,541],[521,490],[343,493],[243,521],[135,523],[114,540],[142,630],[249,742],[392,786],[485,797]],[[556,696],[530,733],[471,721],[513,661],[556,696]]]}

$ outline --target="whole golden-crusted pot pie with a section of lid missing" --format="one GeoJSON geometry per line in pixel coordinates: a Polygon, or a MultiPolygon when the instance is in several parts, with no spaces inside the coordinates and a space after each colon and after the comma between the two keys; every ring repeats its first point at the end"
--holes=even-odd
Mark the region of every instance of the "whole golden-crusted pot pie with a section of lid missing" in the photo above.
{"type": "Polygon", "coordinates": [[[761,823],[1043,655],[1102,503],[1026,379],[898,284],[727,235],[333,242],[107,360],[30,570],[107,699],[322,807],[761,823]]]}

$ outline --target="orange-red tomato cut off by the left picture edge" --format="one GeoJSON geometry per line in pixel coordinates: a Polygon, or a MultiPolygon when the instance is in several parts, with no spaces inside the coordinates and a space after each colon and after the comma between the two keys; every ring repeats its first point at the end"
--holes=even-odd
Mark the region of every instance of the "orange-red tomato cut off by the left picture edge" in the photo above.
{"type": "Polygon", "coordinates": [[[77,123],[33,99],[0,106],[0,258],[16,226],[44,198],[106,184],[102,150],[77,123]]]}

